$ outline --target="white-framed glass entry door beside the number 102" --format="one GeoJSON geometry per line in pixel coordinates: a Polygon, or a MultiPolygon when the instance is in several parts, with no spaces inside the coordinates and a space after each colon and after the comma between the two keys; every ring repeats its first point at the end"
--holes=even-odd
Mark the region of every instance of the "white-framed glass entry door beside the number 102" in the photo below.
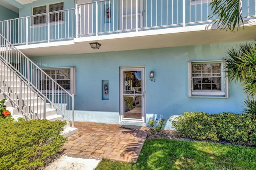
{"type": "Polygon", "coordinates": [[[120,69],[120,121],[145,120],[145,68],[120,69]]]}

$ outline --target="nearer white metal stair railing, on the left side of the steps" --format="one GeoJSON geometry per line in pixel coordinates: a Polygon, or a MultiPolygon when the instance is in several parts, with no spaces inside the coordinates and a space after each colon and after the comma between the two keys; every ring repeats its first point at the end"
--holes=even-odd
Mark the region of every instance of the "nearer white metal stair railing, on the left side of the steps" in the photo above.
{"type": "Polygon", "coordinates": [[[9,63],[6,63],[2,55],[0,55],[0,72],[0,92],[4,94],[6,100],[10,101],[9,105],[18,108],[20,115],[24,115],[28,120],[45,119],[46,98],[24,81],[22,76],[9,63]]]}

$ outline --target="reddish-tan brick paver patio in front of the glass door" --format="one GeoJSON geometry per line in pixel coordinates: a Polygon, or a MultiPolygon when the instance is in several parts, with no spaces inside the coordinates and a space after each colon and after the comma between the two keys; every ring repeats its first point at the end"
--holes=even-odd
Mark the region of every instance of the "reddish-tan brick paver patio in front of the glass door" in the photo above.
{"type": "Polygon", "coordinates": [[[78,132],[68,137],[65,153],[96,156],[111,160],[136,162],[147,137],[139,129],[123,129],[121,125],[75,122],[78,132]]]}

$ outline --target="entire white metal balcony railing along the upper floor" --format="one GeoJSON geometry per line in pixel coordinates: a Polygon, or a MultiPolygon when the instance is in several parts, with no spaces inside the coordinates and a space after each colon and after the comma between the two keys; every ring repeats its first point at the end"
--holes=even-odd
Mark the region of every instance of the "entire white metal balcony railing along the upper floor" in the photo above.
{"type": "MultiPolygon", "coordinates": [[[[99,0],[76,8],[0,21],[13,44],[186,27],[211,23],[211,0],[99,0]]],[[[256,1],[242,0],[244,18],[256,17],[256,1]]]]}

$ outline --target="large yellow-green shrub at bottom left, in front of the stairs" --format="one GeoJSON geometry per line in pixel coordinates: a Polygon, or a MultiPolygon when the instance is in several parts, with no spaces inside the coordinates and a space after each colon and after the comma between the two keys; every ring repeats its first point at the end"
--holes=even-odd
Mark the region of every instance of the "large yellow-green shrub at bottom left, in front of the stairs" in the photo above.
{"type": "Polygon", "coordinates": [[[0,122],[0,169],[36,169],[61,149],[66,121],[0,122]]]}

